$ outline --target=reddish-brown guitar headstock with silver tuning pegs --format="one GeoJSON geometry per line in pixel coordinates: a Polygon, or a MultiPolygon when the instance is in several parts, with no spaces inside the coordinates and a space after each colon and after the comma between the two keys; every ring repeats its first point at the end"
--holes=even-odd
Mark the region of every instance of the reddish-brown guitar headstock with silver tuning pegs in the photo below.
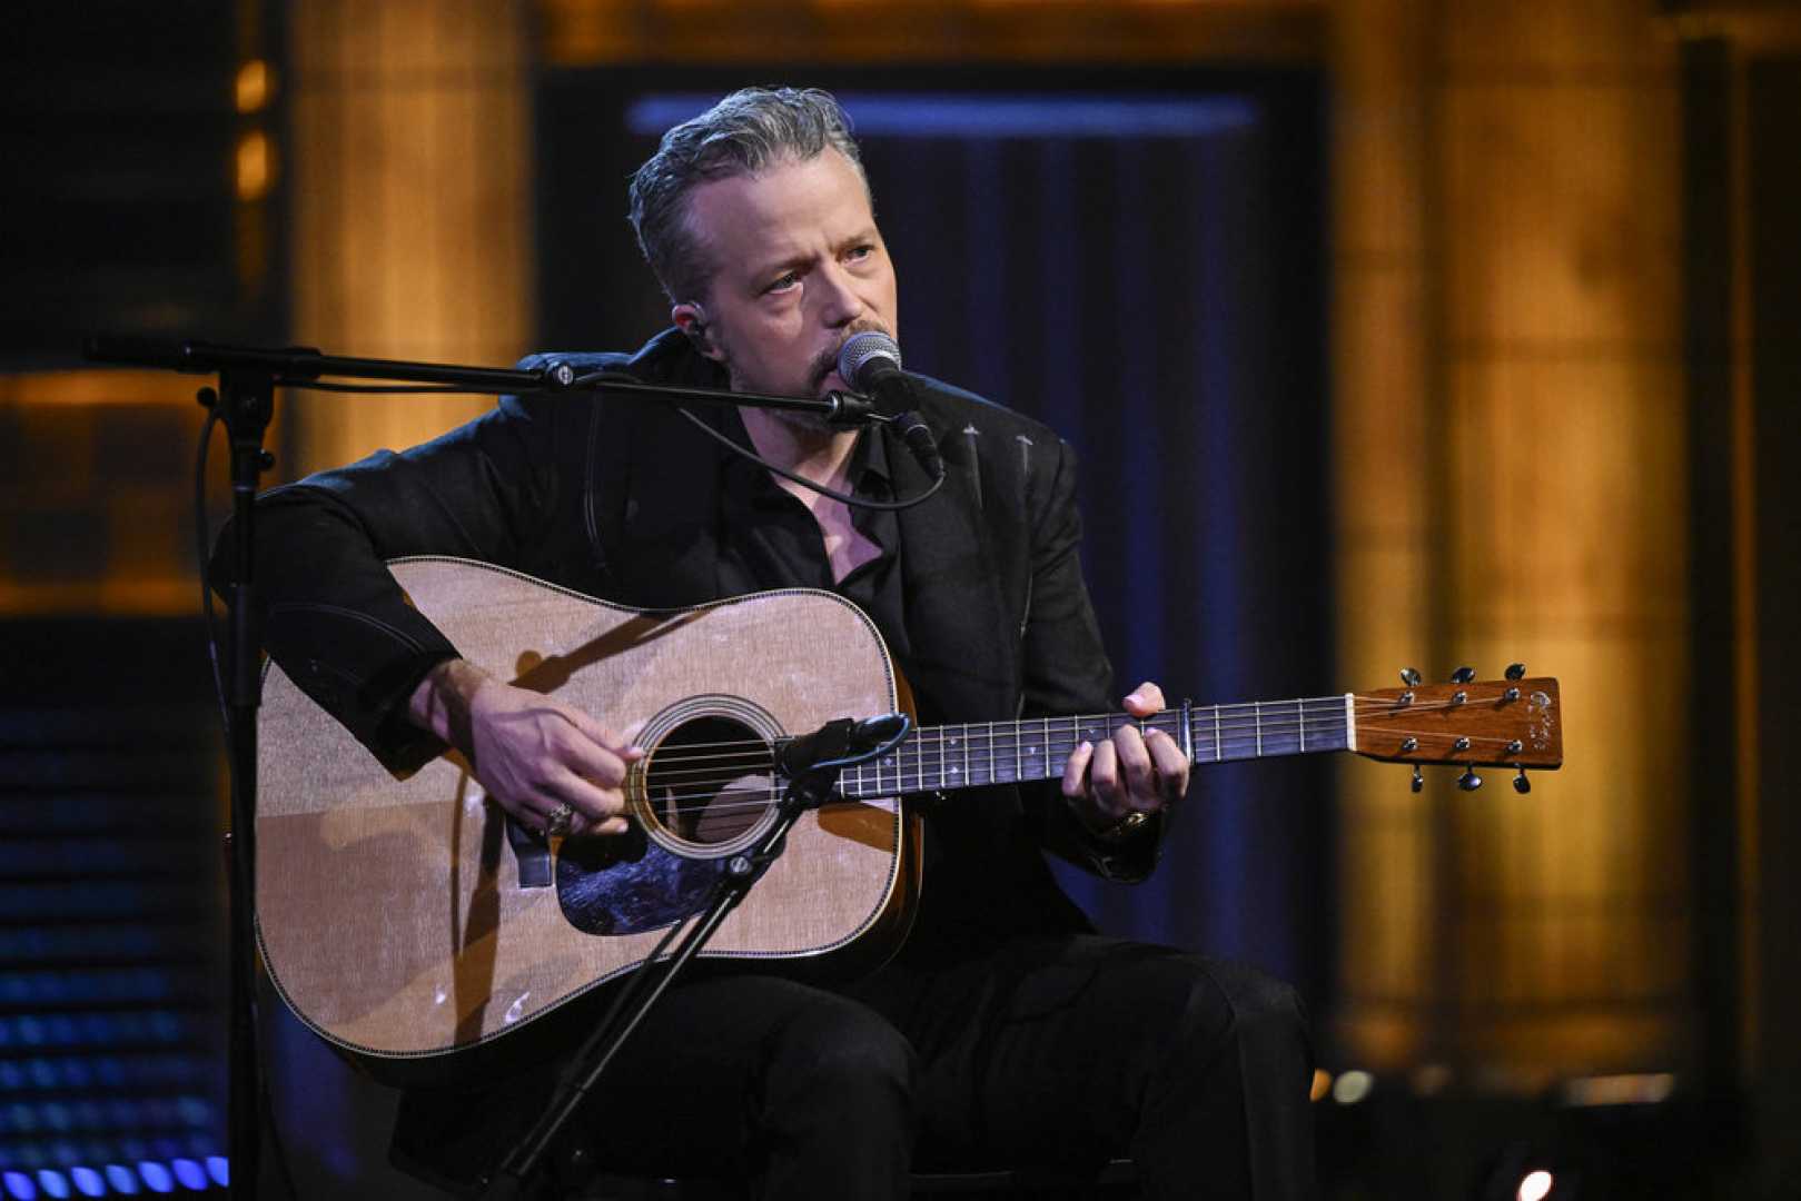
{"type": "Polygon", "coordinates": [[[1466,673],[1473,675],[1464,668],[1450,684],[1356,693],[1351,749],[1390,763],[1563,765],[1563,711],[1554,677],[1475,681],[1466,673]]]}

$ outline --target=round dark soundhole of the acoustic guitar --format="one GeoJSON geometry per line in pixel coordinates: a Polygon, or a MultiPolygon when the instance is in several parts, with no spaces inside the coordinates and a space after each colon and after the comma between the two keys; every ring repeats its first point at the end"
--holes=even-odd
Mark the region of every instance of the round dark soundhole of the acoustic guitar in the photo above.
{"type": "Polygon", "coordinates": [[[690,844],[731,843],[762,821],[774,799],[769,742],[729,717],[677,726],[645,769],[650,816],[690,844]]]}

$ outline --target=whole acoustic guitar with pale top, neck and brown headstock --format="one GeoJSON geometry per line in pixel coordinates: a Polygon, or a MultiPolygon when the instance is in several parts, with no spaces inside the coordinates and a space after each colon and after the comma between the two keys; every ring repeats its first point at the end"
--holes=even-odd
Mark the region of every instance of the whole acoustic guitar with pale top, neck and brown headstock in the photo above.
{"type": "MultiPolygon", "coordinates": [[[[468,560],[389,567],[466,659],[614,727],[643,718],[648,754],[627,780],[630,834],[546,841],[488,801],[457,753],[396,774],[267,670],[259,945],[301,1021],[376,1070],[490,1044],[636,967],[773,821],[783,740],[900,704],[875,625],[830,592],[638,610],[468,560]]],[[[924,727],[801,817],[706,956],[809,967],[886,954],[919,889],[919,826],[900,798],[955,803],[960,789],[1055,780],[1079,742],[1124,722],[1163,729],[1196,765],[1327,751],[1466,769],[1563,758],[1554,679],[924,727]]]]}

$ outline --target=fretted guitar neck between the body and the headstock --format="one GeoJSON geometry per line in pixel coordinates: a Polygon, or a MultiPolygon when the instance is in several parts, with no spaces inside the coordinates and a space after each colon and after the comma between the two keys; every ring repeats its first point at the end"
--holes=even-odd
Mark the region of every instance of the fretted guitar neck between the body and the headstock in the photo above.
{"type": "Polygon", "coordinates": [[[1304,697],[1250,704],[1183,706],[1153,717],[1100,713],[1016,722],[926,726],[891,754],[845,771],[850,799],[897,792],[949,792],[992,783],[1057,780],[1082,742],[1100,744],[1122,726],[1162,729],[1190,763],[1313,754],[1351,749],[1351,699],[1304,697]]]}

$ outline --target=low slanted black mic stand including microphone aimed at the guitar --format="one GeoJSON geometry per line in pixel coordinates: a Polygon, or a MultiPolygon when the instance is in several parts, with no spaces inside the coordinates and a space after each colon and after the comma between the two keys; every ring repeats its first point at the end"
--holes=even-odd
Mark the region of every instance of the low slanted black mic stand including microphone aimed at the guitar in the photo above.
{"type": "MultiPolygon", "coordinates": [[[[483,1181],[483,1197],[524,1197],[526,1187],[542,1169],[546,1154],[557,1136],[582,1107],[582,1102],[600,1082],[607,1066],[620,1053],[620,1048],[643,1023],[650,1007],[657,1003],[681,971],[713,938],[719,926],[751,891],[751,886],[764,877],[787,846],[787,832],[809,808],[818,808],[837,787],[837,774],[845,767],[868,762],[897,747],[911,731],[913,722],[904,713],[852,722],[839,718],[827,722],[818,733],[794,738],[783,744],[780,753],[782,767],[789,772],[789,785],[776,801],[776,819],[769,830],[749,850],[738,852],[726,861],[726,870],[713,886],[713,895],[699,918],[688,926],[688,933],[668,960],[663,953],[681,924],[657,942],[656,949],[638,965],[625,989],[614,998],[607,1014],[594,1026],[582,1048],[569,1059],[558,1077],[557,1095],[538,1116],[537,1124],[508,1152],[499,1170],[483,1181]],[[873,745],[872,745],[873,742],[873,745]],[[796,749],[800,749],[796,753],[796,749]],[[810,760],[810,762],[798,762],[810,760]]],[[[580,1156],[582,1152],[578,1152],[580,1156]]],[[[580,1165],[580,1160],[576,1160],[580,1165]]]]}

